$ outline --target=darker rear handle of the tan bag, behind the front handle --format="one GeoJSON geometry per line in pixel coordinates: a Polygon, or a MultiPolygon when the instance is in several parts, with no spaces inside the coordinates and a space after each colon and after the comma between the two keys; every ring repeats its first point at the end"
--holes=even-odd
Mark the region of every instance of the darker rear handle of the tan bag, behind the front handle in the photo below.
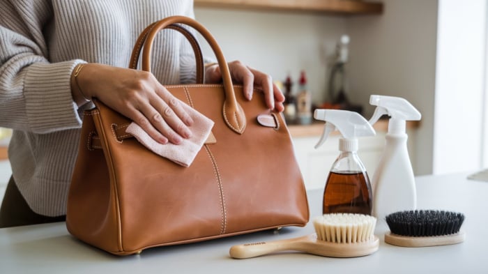
{"type": "MultiPolygon", "coordinates": [[[[132,50],[132,54],[130,55],[129,68],[137,69],[137,61],[139,61],[139,56],[141,54],[142,47],[146,42],[146,38],[149,31],[153,29],[154,25],[155,23],[147,26],[146,29],[144,29],[144,31],[142,31],[142,33],[139,35],[139,38],[137,38],[135,47],[132,50]]],[[[177,24],[171,24],[167,26],[166,29],[174,29],[176,31],[179,31],[190,42],[190,45],[192,45],[193,52],[195,53],[195,61],[197,63],[197,84],[204,84],[205,81],[204,54],[202,54],[201,52],[201,48],[199,43],[197,42],[197,38],[195,38],[195,36],[193,36],[193,34],[190,31],[188,31],[188,29],[185,29],[183,28],[183,26],[179,26],[177,24]]]]}

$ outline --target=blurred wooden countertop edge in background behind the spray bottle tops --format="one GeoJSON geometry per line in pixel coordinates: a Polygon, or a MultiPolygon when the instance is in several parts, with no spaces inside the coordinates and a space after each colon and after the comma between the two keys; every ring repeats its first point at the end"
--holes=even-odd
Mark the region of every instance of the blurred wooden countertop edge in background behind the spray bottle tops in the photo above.
{"type": "MultiPolygon", "coordinates": [[[[323,132],[323,122],[314,122],[311,125],[288,125],[291,137],[314,137],[320,136],[323,132]]],[[[420,121],[406,121],[406,128],[418,128],[420,121]]],[[[388,131],[388,119],[381,119],[373,125],[374,130],[378,132],[388,131]]],[[[339,134],[333,132],[332,134],[339,134]]]]}

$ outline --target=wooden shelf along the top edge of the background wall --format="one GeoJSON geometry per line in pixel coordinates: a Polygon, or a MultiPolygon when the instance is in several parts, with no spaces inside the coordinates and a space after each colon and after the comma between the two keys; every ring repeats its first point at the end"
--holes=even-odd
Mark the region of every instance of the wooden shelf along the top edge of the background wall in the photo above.
{"type": "Polygon", "coordinates": [[[379,15],[383,3],[361,0],[195,0],[197,7],[289,10],[336,15],[379,15]]]}

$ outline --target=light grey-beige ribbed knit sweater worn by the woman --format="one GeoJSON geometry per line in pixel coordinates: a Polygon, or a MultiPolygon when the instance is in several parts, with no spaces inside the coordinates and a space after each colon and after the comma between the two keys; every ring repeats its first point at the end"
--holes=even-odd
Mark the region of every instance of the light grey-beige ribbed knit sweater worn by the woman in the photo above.
{"type": "MultiPolygon", "coordinates": [[[[33,211],[66,213],[82,111],[70,91],[80,62],[128,67],[148,24],[193,17],[192,0],[0,0],[0,126],[13,128],[13,177],[33,211]]],[[[162,31],[152,72],[162,84],[192,82],[195,58],[176,31],[162,31]]],[[[114,94],[116,96],[116,94],[114,94]]]]}

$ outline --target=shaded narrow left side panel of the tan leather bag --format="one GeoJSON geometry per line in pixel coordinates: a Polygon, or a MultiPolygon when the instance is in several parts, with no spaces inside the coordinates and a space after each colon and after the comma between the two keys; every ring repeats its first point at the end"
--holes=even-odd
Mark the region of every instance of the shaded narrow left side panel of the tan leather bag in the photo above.
{"type": "Polygon", "coordinates": [[[84,114],[77,162],[68,193],[66,227],[70,234],[102,250],[118,252],[116,212],[102,149],[91,146],[98,135],[93,112],[84,114]]]}

